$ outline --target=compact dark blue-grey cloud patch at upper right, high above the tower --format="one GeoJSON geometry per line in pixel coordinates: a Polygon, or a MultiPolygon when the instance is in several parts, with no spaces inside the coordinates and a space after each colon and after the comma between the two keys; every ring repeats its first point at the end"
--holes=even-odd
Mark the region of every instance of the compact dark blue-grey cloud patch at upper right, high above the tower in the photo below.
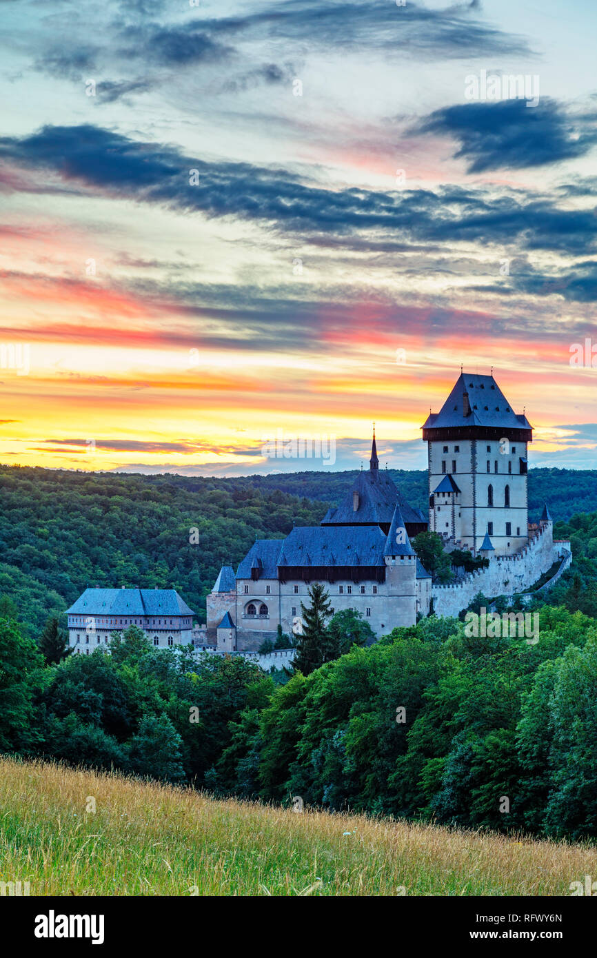
{"type": "Polygon", "coordinates": [[[568,115],[547,98],[461,103],[436,110],[417,125],[419,133],[445,133],[460,143],[456,157],[470,172],[544,166],[584,156],[597,143],[595,115],[568,115]]]}

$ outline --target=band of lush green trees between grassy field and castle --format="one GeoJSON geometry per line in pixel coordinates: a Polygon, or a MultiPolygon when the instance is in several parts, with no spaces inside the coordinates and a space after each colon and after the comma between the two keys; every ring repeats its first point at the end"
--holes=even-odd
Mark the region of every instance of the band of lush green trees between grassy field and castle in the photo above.
{"type": "Polygon", "coordinates": [[[329,810],[597,837],[597,621],[545,605],[537,644],[427,618],[276,684],[154,650],[47,664],[0,618],[0,751],[329,810]]]}

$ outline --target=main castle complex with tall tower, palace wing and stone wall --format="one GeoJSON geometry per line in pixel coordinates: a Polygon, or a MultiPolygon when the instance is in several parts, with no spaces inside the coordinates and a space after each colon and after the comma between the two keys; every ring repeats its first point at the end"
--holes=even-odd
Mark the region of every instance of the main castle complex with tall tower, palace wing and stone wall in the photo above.
{"type": "Polygon", "coordinates": [[[278,626],[300,631],[301,603],[323,582],[334,611],[360,612],[379,636],[411,626],[432,608],[457,615],[479,591],[489,597],[528,589],[569,543],[553,540],[545,507],[529,527],[527,448],[533,429],[494,376],[461,373],[439,413],[423,426],[428,456],[428,521],[379,470],[375,430],[369,469],[319,526],[284,539],[258,539],[235,574],[224,566],[207,597],[207,636],[220,651],[258,650],[278,626]],[[489,559],[453,585],[432,584],[410,537],[429,529],[444,548],[489,559]]]}

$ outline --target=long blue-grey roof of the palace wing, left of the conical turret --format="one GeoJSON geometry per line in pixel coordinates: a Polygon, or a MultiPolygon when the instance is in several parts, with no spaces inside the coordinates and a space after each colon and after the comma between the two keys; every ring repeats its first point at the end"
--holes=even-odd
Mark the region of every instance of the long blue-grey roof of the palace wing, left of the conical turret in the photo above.
{"type": "Polygon", "coordinates": [[[279,564],[383,565],[385,536],[379,526],[295,526],[279,564]]]}

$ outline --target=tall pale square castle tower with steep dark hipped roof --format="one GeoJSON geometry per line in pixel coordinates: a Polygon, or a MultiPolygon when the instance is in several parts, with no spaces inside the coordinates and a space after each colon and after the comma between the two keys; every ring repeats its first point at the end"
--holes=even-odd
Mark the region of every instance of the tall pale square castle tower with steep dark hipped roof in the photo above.
{"type": "Polygon", "coordinates": [[[486,533],[494,555],[528,540],[527,444],[533,429],[494,376],[461,373],[439,413],[423,426],[429,477],[429,531],[448,548],[476,555],[486,533]]]}

